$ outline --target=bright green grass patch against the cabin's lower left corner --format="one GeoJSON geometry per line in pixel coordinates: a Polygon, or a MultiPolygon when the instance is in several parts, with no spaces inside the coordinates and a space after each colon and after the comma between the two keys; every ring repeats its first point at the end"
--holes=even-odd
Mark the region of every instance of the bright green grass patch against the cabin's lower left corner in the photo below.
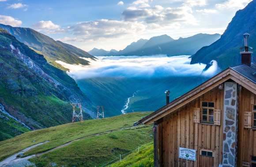
{"type": "Polygon", "coordinates": [[[111,167],[154,167],[154,147],[150,142],[140,148],[139,152],[134,151],[123,160],[113,163],[111,167]]]}

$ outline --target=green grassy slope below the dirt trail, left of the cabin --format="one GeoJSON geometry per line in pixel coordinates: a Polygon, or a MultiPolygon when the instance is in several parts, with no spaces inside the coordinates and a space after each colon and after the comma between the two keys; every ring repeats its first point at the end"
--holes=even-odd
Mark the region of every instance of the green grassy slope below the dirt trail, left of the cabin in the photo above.
{"type": "Polygon", "coordinates": [[[49,166],[52,163],[65,167],[100,167],[120,154],[152,141],[151,132],[151,127],[140,127],[85,138],[30,161],[37,167],[49,166]]]}

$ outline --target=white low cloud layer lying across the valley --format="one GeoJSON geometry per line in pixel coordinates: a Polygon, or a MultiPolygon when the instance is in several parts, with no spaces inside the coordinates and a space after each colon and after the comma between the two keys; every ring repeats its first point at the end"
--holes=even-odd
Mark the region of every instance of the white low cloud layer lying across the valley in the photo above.
{"type": "Polygon", "coordinates": [[[76,80],[95,77],[168,77],[214,75],[218,70],[217,62],[203,72],[205,64],[190,65],[189,56],[109,56],[91,59],[90,65],[69,65],[56,61],[70,69],[68,74],[76,80]]]}

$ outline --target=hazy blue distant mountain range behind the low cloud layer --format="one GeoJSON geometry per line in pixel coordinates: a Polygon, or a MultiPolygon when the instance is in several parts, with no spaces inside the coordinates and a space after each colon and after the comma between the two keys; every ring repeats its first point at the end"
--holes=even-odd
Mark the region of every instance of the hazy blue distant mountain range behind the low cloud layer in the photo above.
{"type": "Polygon", "coordinates": [[[149,56],[155,54],[167,54],[169,56],[176,55],[192,55],[201,47],[207,46],[218,40],[220,34],[203,34],[199,33],[187,38],[179,38],[174,40],[168,35],[154,36],[149,40],[140,39],[118,52],[109,52],[103,49],[89,51],[94,56],[149,56]]]}

